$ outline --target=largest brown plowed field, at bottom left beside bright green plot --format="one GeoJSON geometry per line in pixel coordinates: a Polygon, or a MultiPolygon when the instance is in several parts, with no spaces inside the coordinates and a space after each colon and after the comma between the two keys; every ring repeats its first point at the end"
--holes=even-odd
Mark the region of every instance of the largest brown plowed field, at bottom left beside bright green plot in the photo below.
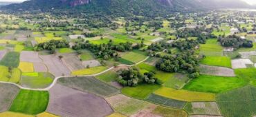
{"type": "Polygon", "coordinates": [[[47,110],[58,116],[102,117],[113,113],[104,98],[56,84],[50,89],[50,103],[47,110]]]}

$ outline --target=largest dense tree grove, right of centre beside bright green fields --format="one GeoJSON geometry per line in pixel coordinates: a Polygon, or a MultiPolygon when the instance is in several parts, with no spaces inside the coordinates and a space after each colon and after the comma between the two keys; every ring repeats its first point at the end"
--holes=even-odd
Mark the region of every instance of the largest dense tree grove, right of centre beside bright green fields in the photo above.
{"type": "Polygon", "coordinates": [[[175,56],[161,56],[161,60],[157,61],[156,68],[164,72],[187,72],[190,78],[199,76],[199,70],[196,65],[203,56],[195,54],[194,51],[188,50],[176,54],[175,56]]]}

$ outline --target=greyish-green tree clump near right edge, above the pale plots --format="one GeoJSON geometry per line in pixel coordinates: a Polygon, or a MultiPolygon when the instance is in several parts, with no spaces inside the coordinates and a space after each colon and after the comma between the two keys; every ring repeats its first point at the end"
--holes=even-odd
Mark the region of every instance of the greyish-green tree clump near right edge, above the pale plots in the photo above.
{"type": "Polygon", "coordinates": [[[241,39],[236,35],[230,35],[227,37],[219,36],[218,41],[224,47],[234,47],[235,49],[239,47],[253,47],[253,41],[241,39]]]}

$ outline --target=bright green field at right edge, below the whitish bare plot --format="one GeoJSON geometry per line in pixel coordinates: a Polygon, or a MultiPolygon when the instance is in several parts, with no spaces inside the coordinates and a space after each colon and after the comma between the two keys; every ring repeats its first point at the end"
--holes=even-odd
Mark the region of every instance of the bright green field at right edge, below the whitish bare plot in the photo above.
{"type": "Polygon", "coordinates": [[[251,85],[256,86],[256,68],[235,69],[235,74],[251,85]]]}

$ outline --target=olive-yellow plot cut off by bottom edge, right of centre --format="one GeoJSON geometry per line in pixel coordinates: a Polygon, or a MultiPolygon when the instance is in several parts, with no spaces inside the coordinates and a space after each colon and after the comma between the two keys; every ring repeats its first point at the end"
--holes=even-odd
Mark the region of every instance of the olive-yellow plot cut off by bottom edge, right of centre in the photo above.
{"type": "Polygon", "coordinates": [[[166,117],[188,116],[188,114],[182,109],[172,109],[172,108],[161,107],[161,106],[156,107],[156,109],[154,109],[152,113],[160,116],[166,116],[166,117]]]}

